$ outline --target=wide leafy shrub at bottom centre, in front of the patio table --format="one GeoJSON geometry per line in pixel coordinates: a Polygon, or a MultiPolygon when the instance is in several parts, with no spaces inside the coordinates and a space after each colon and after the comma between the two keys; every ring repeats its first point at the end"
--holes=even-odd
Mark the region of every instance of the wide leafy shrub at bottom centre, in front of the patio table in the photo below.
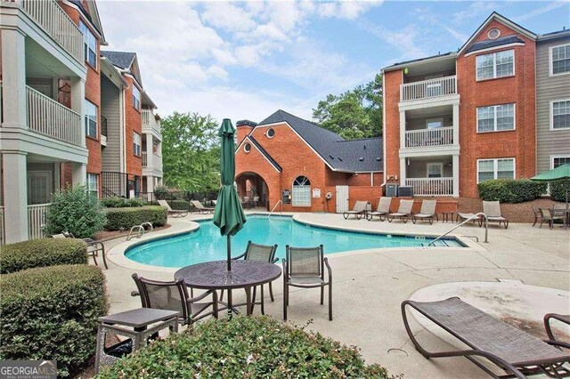
{"type": "Polygon", "coordinates": [[[102,371],[117,377],[388,377],[358,348],[267,316],[209,320],[102,371]]]}

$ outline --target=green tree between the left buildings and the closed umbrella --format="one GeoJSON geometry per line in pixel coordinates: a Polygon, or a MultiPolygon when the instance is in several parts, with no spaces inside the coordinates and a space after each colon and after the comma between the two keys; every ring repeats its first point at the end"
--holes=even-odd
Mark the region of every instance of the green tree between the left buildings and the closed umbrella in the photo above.
{"type": "Polygon", "coordinates": [[[190,192],[218,189],[220,146],[216,120],[210,115],[175,112],[162,119],[161,129],[165,184],[190,192]]]}

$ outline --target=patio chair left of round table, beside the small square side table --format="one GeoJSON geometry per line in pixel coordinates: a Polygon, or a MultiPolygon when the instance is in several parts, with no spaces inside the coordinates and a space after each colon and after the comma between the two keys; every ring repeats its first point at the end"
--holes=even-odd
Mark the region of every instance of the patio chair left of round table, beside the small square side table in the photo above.
{"type": "Polygon", "coordinates": [[[213,289],[190,297],[183,279],[161,282],[142,278],[137,274],[132,277],[138,291],[131,292],[131,296],[141,296],[142,308],[178,310],[182,314],[180,322],[183,325],[191,325],[208,316],[217,319],[217,294],[213,289]],[[210,295],[211,302],[199,302],[210,295]]]}

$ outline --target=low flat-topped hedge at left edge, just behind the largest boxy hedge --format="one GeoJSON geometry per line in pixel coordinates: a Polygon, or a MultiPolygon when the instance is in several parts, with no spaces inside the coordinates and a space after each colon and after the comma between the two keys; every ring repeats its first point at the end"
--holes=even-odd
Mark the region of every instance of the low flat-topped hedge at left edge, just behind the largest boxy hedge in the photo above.
{"type": "Polygon", "coordinates": [[[0,248],[0,273],[58,264],[86,264],[87,245],[76,238],[41,238],[0,248]]]}

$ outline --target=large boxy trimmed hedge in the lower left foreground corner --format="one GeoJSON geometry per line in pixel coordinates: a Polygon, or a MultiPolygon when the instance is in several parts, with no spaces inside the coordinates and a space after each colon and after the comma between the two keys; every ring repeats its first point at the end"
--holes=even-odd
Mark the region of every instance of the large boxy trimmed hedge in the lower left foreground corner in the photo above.
{"type": "Polygon", "coordinates": [[[102,271],[86,264],[0,276],[0,359],[56,359],[59,376],[88,363],[107,313],[102,271]]]}

